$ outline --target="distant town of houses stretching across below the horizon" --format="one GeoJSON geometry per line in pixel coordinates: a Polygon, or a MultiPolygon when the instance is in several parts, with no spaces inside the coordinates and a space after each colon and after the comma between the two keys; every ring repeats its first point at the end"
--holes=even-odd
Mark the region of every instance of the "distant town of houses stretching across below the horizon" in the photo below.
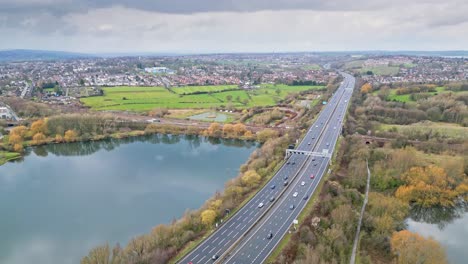
{"type": "Polygon", "coordinates": [[[78,58],[0,63],[2,96],[50,104],[79,104],[102,87],[183,87],[310,82],[326,84],[330,66],[370,83],[442,83],[468,79],[467,58],[399,55],[213,54],[166,57],[78,58]],[[330,62],[331,59],[331,62],[330,62]]]}

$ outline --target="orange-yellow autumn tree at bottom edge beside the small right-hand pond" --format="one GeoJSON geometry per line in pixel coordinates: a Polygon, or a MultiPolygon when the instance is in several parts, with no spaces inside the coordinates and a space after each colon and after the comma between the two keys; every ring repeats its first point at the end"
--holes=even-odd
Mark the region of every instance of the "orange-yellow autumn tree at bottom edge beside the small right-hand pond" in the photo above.
{"type": "Polygon", "coordinates": [[[408,230],[393,233],[390,244],[399,264],[448,263],[445,252],[437,241],[408,230]]]}

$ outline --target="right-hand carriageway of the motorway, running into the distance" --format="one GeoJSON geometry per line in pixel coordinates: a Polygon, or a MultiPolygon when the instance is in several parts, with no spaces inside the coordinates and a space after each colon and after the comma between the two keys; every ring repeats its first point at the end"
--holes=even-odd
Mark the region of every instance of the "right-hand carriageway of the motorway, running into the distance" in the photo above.
{"type": "MultiPolygon", "coordinates": [[[[345,77],[343,85],[327,106],[327,108],[331,106],[329,109],[333,110],[330,110],[332,113],[328,122],[324,122],[325,131],[313,149],[314,152],[332,153],[341,133],[343,118],[354,87],[354,78],[348,75],[345,77]]],[[[268,214],[249,231],[238,246],[229,252],[223,263],[263,263],[270,255],[307,204],[330,162],[329,157],[311,156],[309,160],[308,165],[300,172],[300,176],[291,183],[288,191],[278,199],[268,214]]]]}

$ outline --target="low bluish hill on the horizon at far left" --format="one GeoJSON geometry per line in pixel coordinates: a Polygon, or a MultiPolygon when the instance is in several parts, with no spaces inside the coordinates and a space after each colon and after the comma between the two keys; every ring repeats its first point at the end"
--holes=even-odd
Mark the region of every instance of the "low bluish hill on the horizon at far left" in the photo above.
{"type": "Polygon", "coordinates": [[[95,57],[90,54],[48,50],[0,50],[2,61],[66,60],[95,57]]]}

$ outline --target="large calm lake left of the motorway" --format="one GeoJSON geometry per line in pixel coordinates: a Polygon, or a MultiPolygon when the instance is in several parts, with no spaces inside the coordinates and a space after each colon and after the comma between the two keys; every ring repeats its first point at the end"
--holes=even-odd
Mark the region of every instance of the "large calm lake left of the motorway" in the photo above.
{"type": "Polygon", "coordinates": [[[0,166],[0,263],[79,263],[199,208],[254,142],[151,135],[56,144],[0,166]]]}

